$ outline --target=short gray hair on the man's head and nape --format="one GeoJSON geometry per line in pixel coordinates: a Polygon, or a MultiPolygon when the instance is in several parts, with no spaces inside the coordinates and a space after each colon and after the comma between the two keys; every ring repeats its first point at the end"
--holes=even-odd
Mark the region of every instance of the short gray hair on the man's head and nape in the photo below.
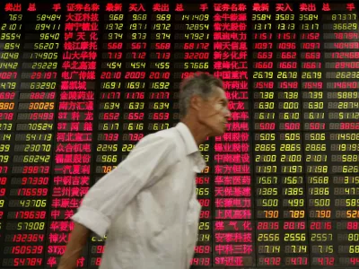
{"type": "Polygon", "coordinates": [[[207,100],[216,87],[223,88],[223,82],[212,74],[195,73],[183,80],[180,83],[180,117],[187,115],[189,101],[193,95],[207,100]]]}

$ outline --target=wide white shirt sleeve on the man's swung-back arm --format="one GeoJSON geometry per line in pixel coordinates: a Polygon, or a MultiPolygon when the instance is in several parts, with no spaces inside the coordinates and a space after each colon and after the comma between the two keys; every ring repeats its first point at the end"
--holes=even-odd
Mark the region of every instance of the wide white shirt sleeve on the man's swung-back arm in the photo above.
{"type": "Polygon", "coordinates": [[[171,139],[155,134],[145,136],[125,161],[90,188],[72,220],[103,237],[114,217],[144,187],[160,180],[176,161],[174,150],[171,139]]]}

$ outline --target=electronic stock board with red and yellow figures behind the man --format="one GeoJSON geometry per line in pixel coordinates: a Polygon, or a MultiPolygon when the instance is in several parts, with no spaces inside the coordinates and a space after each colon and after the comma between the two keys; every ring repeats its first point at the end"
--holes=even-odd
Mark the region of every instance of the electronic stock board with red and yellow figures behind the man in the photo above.
{"type": "Polygon", "coordinates": [[[2,1],[0,268],[56,268],[83,195],[179,122],[198,71],[223,79],[232,118],[199,147],[192,268],[358,267],[357,8],[2,1]]]}

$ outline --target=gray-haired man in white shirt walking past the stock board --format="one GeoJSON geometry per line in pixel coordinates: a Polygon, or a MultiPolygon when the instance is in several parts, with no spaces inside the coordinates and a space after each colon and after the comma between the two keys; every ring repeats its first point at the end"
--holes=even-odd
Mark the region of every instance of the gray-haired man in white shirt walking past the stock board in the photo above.
{"type": "Polygon", "coordinates": [[[222,135],[231,113],[222,81],[194,74],[180,85],[180,123],[146,135],[99,180],[74,214],[58,269],[74,269],[90,230],[107,232],[101,269],[187,269],[197,241],[198,145],[222,135]]]}

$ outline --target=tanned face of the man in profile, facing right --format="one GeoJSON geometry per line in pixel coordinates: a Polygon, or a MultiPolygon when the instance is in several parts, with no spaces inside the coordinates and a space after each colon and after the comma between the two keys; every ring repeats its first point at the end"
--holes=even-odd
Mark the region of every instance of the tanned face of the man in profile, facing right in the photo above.
{"type": "Polygon", "coordinates": [[[217,87],[208,100],[203,100],[198,121],[209,129],[210,136],[217,136],[224,134],[229,117],[231,112],[225,92],[217,87]]]}

